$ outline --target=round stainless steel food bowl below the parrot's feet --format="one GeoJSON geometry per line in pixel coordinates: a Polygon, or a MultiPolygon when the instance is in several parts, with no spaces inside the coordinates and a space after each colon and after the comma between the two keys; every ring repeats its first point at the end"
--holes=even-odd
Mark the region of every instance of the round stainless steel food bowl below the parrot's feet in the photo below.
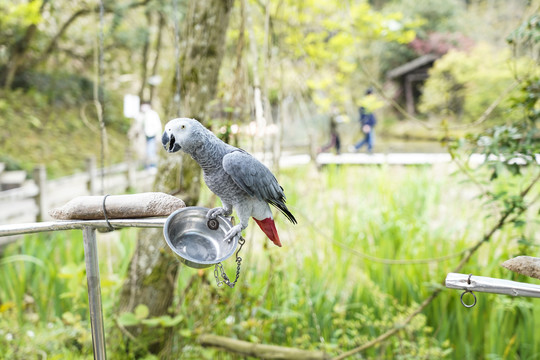
{"type": "Polygon", "coordinates": [[[222,217],[216,218],[219,226],[209,228],[203,207],[187,207],[173,212],[165,221],[163,234],[171,250],[181,262],[189,267],[202,269],[230,257],[238,245],[238,236],[230,242],[223,241],[232,223],[222,217]]]}

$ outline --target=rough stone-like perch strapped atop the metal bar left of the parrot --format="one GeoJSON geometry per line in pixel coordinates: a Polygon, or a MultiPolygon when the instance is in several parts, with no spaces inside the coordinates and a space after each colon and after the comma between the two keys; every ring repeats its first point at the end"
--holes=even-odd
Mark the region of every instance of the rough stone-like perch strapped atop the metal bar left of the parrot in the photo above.
{"type": "MultiPolygon", "coordinates": [[[[62,207],[52,209],[49,215],[59,220],[105,219],[103,198],[104,196],[79,196],[62,207]]],[[[110,195],[105,200],[109,219],[169,216],[173,211],[185,206],[181,199],[161,192],[110,195]]]]}

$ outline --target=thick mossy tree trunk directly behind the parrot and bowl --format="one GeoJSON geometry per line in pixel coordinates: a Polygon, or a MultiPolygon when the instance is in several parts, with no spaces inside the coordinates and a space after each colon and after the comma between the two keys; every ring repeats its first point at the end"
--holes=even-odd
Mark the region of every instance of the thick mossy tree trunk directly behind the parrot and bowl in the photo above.
{"type": "MultiPolygon", "coordinates": [[[[221,66],[225,33],[233,0],[192,0],[183,24],[180,52],[182,68],[182,115],[201,122],[208,120],[206,105],[215,97],[221,66]]],[[[172,84],[171,88],[175,88],[172,84]]],[[[186,204],[197,203],[200,168],[186,155],[162,152],[154,191],[180,194],[186,204]]],[[[165,248],[160,229],[144,229],[130,263],[119,300],[119,313],[133,311],[139,304],[150,310],[149,316],[169,313],[173,302],[179,262],[165,248]]],[[[169,328],[170,329],[170,328],[169,328]]],[[[173,330],[156,333],[156,328],[126,329],[136,341],[125,339],[130,347],[144,347],[159,358],[170,358],[173,330]]],[[[144,350],[143,350],[144,351],[144,350]]]]}

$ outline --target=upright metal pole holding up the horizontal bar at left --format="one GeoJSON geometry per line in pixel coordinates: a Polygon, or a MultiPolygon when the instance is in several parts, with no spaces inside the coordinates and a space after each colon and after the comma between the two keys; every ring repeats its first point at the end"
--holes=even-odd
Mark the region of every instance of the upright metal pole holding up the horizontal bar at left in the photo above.
{"type": "Polygon", "coordinates": [[[86,263],[86,281],[88,282],[88,308],[92,326],[92,345],[95,360],[107,359],[105,352],[105,331],[103,329],[103,310],[101,308],[101,287],[99,282],[99,264],[96,245],[96,229],[83,227],[84,260],[86,263]]]}

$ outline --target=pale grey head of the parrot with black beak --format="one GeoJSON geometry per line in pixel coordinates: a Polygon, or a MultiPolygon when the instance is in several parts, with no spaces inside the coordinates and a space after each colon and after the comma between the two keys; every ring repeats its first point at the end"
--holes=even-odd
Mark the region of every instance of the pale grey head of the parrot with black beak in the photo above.
{"type": "Polygon", "coordinates": [[[192,154],[201,146],[201,135],[206,128],[195,119],[177,118],[165,125],[161,143],[167,152],[183,150],[192,154]]]}

